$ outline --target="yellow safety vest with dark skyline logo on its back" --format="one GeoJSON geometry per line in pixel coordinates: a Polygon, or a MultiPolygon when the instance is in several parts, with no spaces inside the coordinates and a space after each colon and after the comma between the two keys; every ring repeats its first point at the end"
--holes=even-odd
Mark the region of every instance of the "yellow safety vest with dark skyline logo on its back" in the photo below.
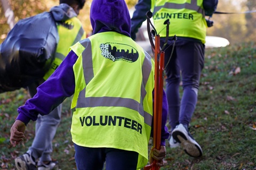
{"type": "Polygon", "coordinates": [[[148,162],[153,118],[154,61],[130,37],[101,32],[70,47],[75,93],[71,135],[76,145],[139,153],[148,162]]]}

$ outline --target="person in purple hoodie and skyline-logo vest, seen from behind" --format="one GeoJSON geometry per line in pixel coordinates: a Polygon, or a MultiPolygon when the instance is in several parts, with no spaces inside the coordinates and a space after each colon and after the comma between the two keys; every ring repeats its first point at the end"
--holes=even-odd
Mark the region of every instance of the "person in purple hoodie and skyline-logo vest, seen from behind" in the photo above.
{"type": "MultiPolygon", "coordinates": [[[[37,94],[18,108],[10,142],[18,145],[26,125],[73,96],[71,136],[77,169],[140,169],[148,163],[153,132],[154,61],[132,40],[131,18],[123,0],[93,0],[93,35],[70,52],[37,94]]],[[[161,148],[150,163],[164,166],[169,132],[163,92],[161,148]]]]}

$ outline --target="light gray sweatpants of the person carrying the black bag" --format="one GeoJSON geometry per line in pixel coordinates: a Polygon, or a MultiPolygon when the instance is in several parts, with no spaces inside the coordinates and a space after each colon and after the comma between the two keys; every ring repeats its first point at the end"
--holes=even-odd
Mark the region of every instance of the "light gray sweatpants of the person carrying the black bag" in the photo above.
{"type": "MultiPolygon", "coordinates": [[[[36,82],[28,86],[28,91],[31,97],[36,94],[36,88],[41,84],[36,82]]],[[[53,109],[49,115],[38,115],[36,121],[36,132],[32,146],[28,150],[32,151],[32,156],[40,162],[51,161],[52,153],[52,140],[57,131],[58,125],[61,120],[61,108],[62,104],[53,109]]]]}

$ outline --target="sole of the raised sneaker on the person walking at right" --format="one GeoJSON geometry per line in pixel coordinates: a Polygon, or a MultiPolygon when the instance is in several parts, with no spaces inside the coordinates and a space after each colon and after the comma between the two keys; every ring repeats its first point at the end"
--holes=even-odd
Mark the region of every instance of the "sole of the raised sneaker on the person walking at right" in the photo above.
{"type": "Polygon", "coordinates": [[[201,157],[203,155],[202,149],[195,143],[189,141],[185,134],[180,131],[172,133],[173,138],[180,143],[183,150],[191,157],[201,157]]]}

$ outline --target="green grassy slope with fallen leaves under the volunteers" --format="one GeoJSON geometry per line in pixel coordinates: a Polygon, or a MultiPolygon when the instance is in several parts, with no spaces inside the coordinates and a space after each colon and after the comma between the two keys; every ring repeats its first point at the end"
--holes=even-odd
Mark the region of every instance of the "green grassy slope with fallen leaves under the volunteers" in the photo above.
{"type": "MultiPolygon", "coordinates": [[[[0,94],[0,169],[15,169],[14,158],[33,141],[35,122],[30,122],[21,145],[13,148],[9,142],[17,108],[28,98],[25,89],[0,94]]],[[[76,169],[70,101],[68,98],[63,104],[62,121],[53,140],[52,158],[59,161],[60,169],[76,169]]],[[[251,129],[255,125],[256,43],[206,49],[198,103],[190,124],[203,156],[189,157],[181,148],[170,149],[166,141],[166,165],[161,169],[256,169],[256,131],[251,129]]]]}

